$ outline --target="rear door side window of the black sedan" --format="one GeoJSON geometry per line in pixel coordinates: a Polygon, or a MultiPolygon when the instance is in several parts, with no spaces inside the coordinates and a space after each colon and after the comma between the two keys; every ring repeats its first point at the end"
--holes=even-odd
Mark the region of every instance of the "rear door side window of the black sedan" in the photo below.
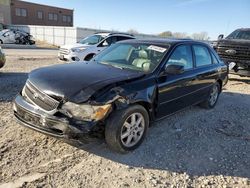
{"type": "Polygon", "coordinates": [[[210,53],[206,47],[200,45],[194,45],[193,49],[197,67],[212,64],[210,53]]]}

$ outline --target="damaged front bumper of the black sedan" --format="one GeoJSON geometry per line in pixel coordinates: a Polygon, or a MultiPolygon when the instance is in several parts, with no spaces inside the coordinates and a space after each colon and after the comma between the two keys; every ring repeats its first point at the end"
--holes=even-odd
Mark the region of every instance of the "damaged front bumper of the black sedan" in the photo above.
{"type": "Polygon", "coordinates": [[[98,122],[79,121],[63,114],[49,115],[28,103],[18,95],[13,104],[14,115],[24,126],[62,139],[76,139],[83,142],[96,140],[102,136],[98,122]]]}

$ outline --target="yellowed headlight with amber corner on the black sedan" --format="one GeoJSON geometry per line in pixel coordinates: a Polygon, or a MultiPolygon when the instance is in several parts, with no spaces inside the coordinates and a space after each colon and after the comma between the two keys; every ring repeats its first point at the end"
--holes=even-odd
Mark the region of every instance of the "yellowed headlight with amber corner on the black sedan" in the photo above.
{"type": "Polygon", "coordinates": [[[69,117],[74,117],[79,120],[85,121],[98,121],[103,119],[111,110],[111,104],[103,106],[94,106],[88,104],[75,104],[66,102],[62,106],[62,112],[69,117]]]}

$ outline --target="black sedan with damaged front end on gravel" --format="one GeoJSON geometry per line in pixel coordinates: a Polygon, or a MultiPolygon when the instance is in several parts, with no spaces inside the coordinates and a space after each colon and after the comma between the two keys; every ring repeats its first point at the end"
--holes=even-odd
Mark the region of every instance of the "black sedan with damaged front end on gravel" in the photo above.
{"type": "Polygon", "coordinates": [[[193,40],[128,40],[91,62],[29,74],[14,101],[25,126],[62,139],[105,137],[115,151],[137,148],[150,122],[190,105],[216,105],[228,67],[193,40]]]}

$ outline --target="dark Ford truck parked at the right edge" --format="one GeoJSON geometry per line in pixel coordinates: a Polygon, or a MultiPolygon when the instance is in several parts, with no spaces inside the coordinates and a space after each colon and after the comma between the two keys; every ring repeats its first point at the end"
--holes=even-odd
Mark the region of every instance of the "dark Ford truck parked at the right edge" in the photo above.
{"type": "Polygon", "coordinates": [[[250,76],[250,28],[237,29],[225,39],[219,35],[213,46],[223,61],[235,63],[232,73],[250,76]]]}

